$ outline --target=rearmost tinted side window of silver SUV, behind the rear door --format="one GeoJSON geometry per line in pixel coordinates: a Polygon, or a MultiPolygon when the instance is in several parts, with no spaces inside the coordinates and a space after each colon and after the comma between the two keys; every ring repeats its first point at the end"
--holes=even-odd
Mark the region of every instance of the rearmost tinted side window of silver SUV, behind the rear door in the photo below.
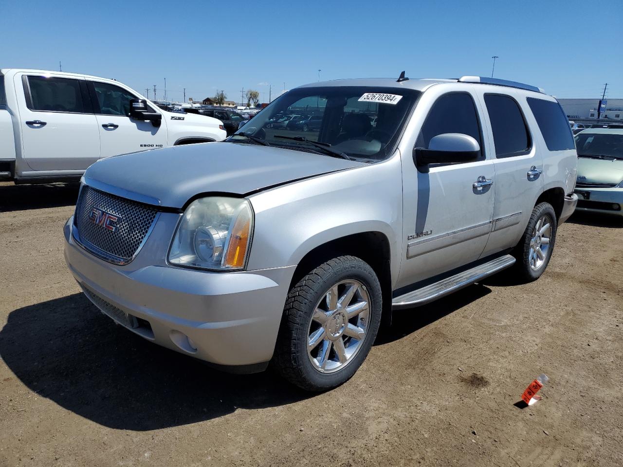
{"type": "Polygon", "coordinates": [[[528,105],[549,151],[575,149],[571,127],[558,102],[528,97],[528,105]]]}

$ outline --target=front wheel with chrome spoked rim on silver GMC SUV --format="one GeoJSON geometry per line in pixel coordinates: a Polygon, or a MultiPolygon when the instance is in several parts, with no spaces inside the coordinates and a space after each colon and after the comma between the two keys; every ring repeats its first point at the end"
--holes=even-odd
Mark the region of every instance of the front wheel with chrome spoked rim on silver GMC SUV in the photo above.
{"type": "Polygon", "coordinates": [[[310,391],[350,379],[372,347],[381,322],[381,285],[363,260],[321,264],[290,289],[273,367],[310,391]]]}

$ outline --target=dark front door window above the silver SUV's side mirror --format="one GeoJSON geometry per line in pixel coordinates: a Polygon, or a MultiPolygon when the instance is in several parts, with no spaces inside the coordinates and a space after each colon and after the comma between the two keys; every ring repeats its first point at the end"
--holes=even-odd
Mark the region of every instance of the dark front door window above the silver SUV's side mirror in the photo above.
{"type": "MultiPolygon", "coordinates": [[[[469,94],[452,93],[437,99],[426,117],[419,136],[417,136],[416,146],[428,148],[433,136],[444,133],[468,134],[478,141],[480,148],[482,148],[478,114],[469,94]]],[[[482,156],[482,149],[480,154],[482,156]]]]}

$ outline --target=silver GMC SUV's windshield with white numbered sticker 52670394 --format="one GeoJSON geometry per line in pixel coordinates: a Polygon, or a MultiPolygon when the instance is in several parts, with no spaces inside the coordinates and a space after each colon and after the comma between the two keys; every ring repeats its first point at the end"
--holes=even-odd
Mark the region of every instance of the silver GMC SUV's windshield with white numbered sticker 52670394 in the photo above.
{"type": "MultiPolygon", "coordinates": [[[[373,163],[391,156],[419,95],[403,88],[297,88],[277,98],[237,133],[303,151],[318,151],[310,142],[323,143],[338,154],[373,163]]],[[[245,142],[245,137],[234,134],[228,141],[245,142]]]]}

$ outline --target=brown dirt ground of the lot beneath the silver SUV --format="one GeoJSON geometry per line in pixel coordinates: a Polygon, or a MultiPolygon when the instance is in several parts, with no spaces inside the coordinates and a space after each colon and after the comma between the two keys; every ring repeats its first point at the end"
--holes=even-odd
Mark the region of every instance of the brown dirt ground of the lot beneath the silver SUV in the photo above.
{"type": "Polygon", "coordinates": [[[99,313],[63,258],[76,195],[0,184],[0,466],[623,465],[622,222],[576,214],[540,280],[394,314],[353,379],[310,395],[99,313]]]}

